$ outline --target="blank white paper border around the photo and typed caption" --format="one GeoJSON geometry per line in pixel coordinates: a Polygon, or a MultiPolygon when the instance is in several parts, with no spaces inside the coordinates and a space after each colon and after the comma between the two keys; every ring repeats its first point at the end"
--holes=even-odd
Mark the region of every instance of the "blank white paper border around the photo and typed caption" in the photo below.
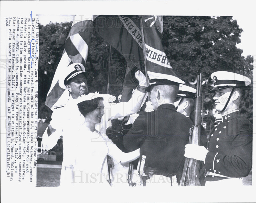
{"type": "MultiPolygon", "coordinates": [[[[47,15],[81,14],[87,10],[95,14],[140,14],[140,15],[243,15],[247,16],[255,29],[255,3],[253,1],[1,1],[1,41],[4,42],[3,33],[5,16],[18,16],[27,13],[47,15]]],[[[255,31],[255,30],[254,30],[255,31]]],[[[254,32],[255,33],[255,32],[254,32]]],[[[255,42],[255,39],[252,39],[255,42]]],[[[252,41],[252,46],[255,43],[252,41]]],[[[1,43],[1,55],[5,55],[5,45],[1,43]]],[[[252,53],[256,55],[256,51],[252,53]]],[[[40,56],[39,56],[40,57],[40,56]]],[[[2,70],[1,70],[2,71],[2,70]]],[[[2,73],[2,72],[1,72],[2,73]]],[[[255,75],[255,74],[254,74],[255,75]]],[[[2,74],[1,74],[2,78],[2,74]]],[[[1,89],[1,101],[5,101],[5,91],[1,89]]],[[[254,115],[255,115],[255,109],[254,115]]],[[[244,202],[255,201],[255,186],[241,188],[170,188],[169,191],[148,192],[129,189],[129,191],[64,191],[61,188],[28,188],[6,181],[5,174],[5,103],[1,102],[1,202],[244,202]],[[70,196],[67,197],[66,195],[70,196]],[[252,199],[254,197],[254,199],[252,199]]],[[[255,123],[255,122],[254,122],[255,123]]],[[[255,134],[255,128],[254,128],[255,134]]],[[[253,139],[253,146],[255,146],[253,139]]],[[[254,147],[255,151],[255,147],[254,147]]],[[[255,154],[253,156],[253,166],[255,154]]],[[[255,185],[255,172],[253,185],[255,185]]]]}

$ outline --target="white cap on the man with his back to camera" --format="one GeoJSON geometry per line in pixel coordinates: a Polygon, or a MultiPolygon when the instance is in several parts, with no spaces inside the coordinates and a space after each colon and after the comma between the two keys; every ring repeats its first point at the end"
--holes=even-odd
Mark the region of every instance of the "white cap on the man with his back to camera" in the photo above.
{"type": "Polygon", "coordinates": [[[149,77],[149,86],[146,88],[147,92],[151,91],[151,86],[153,85],[177,85],[185,84],[183,80],[180,80],[174,73],[172,68],[169,68],[168,74],[166,73],[156,73],[147,71],[149,77]]]}

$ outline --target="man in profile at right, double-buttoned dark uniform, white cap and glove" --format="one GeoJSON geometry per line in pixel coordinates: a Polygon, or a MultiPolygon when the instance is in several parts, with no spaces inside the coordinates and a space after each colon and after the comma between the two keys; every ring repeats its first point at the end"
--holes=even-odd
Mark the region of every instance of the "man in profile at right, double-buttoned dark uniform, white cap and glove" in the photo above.
{"type": "Polygon", "coordinates": [[[187,144],[184,156],[205,162],[200,182],[206,181],[206,186],[242,185],[241,177],[252,168],[252,124],[240,115],[239,106],[251,80],[227,71],[214,72],[211,78],[214,88],[210,92],[215,93],[222,121],[212,129],[207,148],[187,144]]]}

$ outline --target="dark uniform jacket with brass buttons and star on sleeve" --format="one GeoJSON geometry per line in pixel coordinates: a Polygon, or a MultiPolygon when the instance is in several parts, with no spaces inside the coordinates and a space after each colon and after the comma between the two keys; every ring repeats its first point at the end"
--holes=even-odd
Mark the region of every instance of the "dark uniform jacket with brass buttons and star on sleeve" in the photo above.
{"type": "Polygon", "coordinates": [[[210,133],[207,149],[205,181],[225,179],[217,174],[247,176],[252,168],[252,124],[238,110],[222,116],[222,122],[210,133]],[[207,176],[208,172],[216,176],[207,176]]]}

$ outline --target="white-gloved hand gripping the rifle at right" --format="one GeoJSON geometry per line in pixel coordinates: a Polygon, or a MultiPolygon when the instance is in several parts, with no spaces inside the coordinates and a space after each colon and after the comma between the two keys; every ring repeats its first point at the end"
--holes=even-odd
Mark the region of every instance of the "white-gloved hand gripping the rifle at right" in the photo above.
{"type": "Polygon", "coordinates": [[[204,146],[195,144],[186,144],[184,156],[187,158],[193,158],[199,161],[205,161],[205,157],[208,150],[204,146]]]}

